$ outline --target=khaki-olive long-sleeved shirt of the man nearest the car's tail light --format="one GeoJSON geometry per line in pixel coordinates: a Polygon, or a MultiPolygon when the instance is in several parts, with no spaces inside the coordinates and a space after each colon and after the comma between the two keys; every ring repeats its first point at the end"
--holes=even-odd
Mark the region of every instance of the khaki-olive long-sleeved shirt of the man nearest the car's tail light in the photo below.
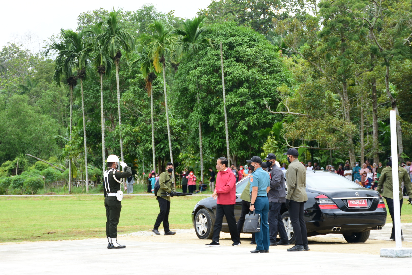
{"type": "Polygon", "coordinates": [[[290,162],[288,170],[286,170],[286,185],[288,186],[286,200],[294,200],[295,202],[306,202],[308,200],[306,168],[299,160],[290,162]]]}

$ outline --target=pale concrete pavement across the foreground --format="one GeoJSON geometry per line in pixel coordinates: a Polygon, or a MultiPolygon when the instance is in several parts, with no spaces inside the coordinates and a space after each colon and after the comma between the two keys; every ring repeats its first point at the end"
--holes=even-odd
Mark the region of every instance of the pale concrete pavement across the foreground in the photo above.
{"type": "Polygon", "coordinates": [[[107,249],[106,239],[0,245],[1,274],[385,274],[409,272],[412,259],[378,255],[287,252],[251,254],[250,247],[126,240],[107,249]],[[160,264],[160,261],[169,264],[160,264]]]}

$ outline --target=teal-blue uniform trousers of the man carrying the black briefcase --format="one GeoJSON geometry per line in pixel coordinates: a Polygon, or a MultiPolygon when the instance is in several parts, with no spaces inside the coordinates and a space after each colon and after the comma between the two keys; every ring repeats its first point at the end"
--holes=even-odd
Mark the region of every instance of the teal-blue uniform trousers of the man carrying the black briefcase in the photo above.
{"type": "Polygon", "coordinates": [[[260,232],[255,233],[256,249],[269,249],[269,224],[267,215],[269,212],[269,200],[267,197],[256,197],[255,213],[260,214],[260,232]]]}

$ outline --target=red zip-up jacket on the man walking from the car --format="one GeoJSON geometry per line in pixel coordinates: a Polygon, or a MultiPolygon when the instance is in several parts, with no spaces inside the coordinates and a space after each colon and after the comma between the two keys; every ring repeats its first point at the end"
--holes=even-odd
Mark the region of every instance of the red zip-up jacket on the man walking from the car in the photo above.
{"type": "Polygon", "coordinates": [[[236,178],[230,168],[218,172],[215,191],[218,193],[218,204],[236,203],[236,178]]]}

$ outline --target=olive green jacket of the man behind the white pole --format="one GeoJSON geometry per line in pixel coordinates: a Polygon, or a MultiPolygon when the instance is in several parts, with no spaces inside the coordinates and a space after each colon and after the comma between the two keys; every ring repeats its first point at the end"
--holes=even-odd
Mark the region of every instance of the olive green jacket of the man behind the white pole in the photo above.
{"type": "MultiPolygon", "coordinates": [[[[399,200],[403,198],[402,181],[405,183],[408,196],[412,197],[412,184],[408,172],[405,168],[398,166],[398,181],[399,181],[399,200]]],[[[392,185],[392,167],[385,167],[382,169],[381,177],[379,178],[377,191],[383,197],[393,199],[393,185],[392,185]],[[382,190],[383,189],[383,190],[382,190]]]]}

